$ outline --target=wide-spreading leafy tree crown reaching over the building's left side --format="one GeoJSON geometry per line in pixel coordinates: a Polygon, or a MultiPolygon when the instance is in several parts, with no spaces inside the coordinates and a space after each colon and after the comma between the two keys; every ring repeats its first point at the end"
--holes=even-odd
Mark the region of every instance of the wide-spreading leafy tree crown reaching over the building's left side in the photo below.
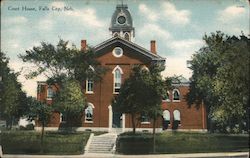
{"type": "Polygon", "coordinates": [[[56,46],[41,42],[41,46],[27,50],[19,57],[24,62],[35,64],[36,69],[26,74],[27,78],[44,75],[50,84],[61,86],[65,78],[72,78],[82,82],[86,78],[101,79],[105,69],[94,59],[92,48],[78,50],[74,45],[69,46],[68,41],[59,40],[56,46]],[[89,66],[94,71],[89,71],[89,66]],[[56,84],[55,84],[56,83],[56,84]]]}

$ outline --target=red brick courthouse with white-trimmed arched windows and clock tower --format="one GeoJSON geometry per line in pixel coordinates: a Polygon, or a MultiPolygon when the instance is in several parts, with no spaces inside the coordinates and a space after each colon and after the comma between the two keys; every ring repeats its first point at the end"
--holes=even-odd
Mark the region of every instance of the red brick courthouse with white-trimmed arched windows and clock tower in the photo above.
{"type": "MultiPolygon", "coordinates": [[[[96,45],[94,50],[96,59],[108,71],[99,82],[84,81],[87,106],[81,120],[82,127],[78,130],[132,130],[129,115],[118,114],[112,111],[111,101],[114,95],[119,94],[121,84],[129,77],[134,65],[149,66],[153,63],[165,64],[165,59],[157,55],[156,41],[150,42],[150,50],[135,44],[135,29],[127,5],[117,5],[111,18],[109,28],[112,38],[96,45]]],[[[81,41],[82,49],[86,49],[87,41],[81,41]]],[[[157,121],[157,130],[206,130],[206,112],[203,106],[196,109],[188,108],[185,95],[188,92],[188,82],[183,80],[175,84],[175,89],[168,92],[162,101],[163,115],[157,121]]],[[[38,100],[52,102],[55,89],[38,82],[38,100]],[[43,90],[43,91],[41,91],[43,90]]],[[[54,112],[49,127],[58,127],[63,122],[63,116],[54,112]]],[[[139,130],[152,130],[152,122],[146,117],[138,123],[139,130]]]]}

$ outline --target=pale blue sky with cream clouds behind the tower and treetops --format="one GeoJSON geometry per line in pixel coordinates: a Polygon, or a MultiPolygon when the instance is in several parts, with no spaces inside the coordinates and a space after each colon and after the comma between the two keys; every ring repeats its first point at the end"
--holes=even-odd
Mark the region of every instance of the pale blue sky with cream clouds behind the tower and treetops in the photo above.
{"type": "MultiPolygon", "coordinates": [[[[19,54],[42,41],[56,45],[68,40],[80,48],[81,39],[95,46],[109,38],[111,16],[121,0],[2,0],[1,51],[10,58],[9,66],[20,72],[18,81],[30,96],[36,96],[37,81],[24,76],[32,65],[19,54]],[[67,9],[64,9],[64,8],[67,9]],[[30,10],[34,8],[34,10],[30,10]]],[[[249,35],[248,0],[123,0],[135,27],[134,42],[150,49],[156,40],[157,52],[166,58],[163,77],[192,72],[187,60],[205,45],[202,37],[222,31],[227,35],[249,35]]]]}

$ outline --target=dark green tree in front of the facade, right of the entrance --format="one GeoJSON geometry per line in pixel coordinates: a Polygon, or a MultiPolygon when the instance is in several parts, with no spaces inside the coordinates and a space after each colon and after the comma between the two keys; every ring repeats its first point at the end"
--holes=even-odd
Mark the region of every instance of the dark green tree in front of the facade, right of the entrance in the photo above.
{"type": "Polygon", "coordinates": [[[122,85],[119,95],[113,100],[114,111],[131,115],[133,133],[136,130],[136,117],[142,114],[153,118],[155,133],[155,122],[161,113],[162,94],[165,92],[160,70],[162,69],[156,65],[152,65],[149,70],[135,66],[122,85]]]}

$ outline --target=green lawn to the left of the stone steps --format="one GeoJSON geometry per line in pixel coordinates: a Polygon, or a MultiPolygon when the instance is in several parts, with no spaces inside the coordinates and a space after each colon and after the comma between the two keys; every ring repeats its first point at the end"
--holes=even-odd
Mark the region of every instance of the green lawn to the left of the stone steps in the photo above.
{"type": "Polygon", "coordinates": [[[46,132],[44,153],[40,152],[40,133],[35,131],[2,131],[0,144],[4,154],[82,154],[90,132],[46,132]]]}

